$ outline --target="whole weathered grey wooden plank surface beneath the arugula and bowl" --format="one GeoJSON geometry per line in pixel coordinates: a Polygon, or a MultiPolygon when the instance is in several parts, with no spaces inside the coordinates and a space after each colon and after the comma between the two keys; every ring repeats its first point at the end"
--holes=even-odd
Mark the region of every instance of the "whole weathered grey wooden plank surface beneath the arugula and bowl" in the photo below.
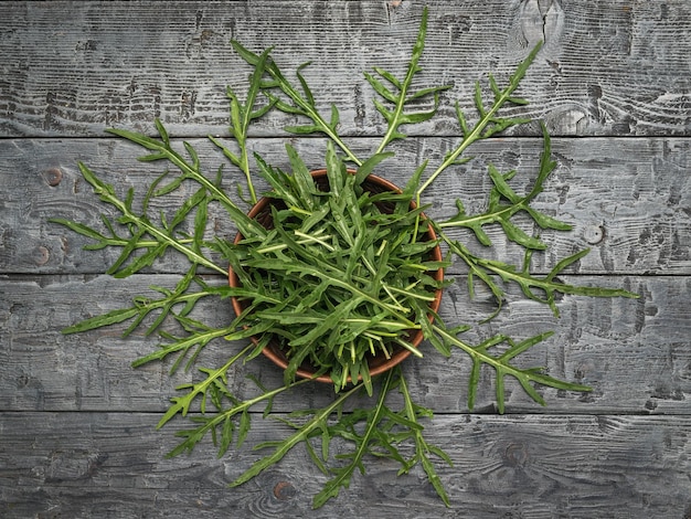
{"type": "MultiPolygon", "coordinates": [[[[508,388],[495,413],[490,373],[474,413],[466,407],[467,359],[408,361],[419,403],[435,410],[426,434],[450,454],[439,467],[446,509],[414,472],[372,460],[351,488],[311,510],[323,483],[304,451],[240,488],[226,484],[258,454],[215,457],[209,444],[166,459],[172,431],[156,431],[174,386],[191,374],[168,364],[135,370],[156,338],[120,338],[120,329],[62,336],[84,317],[127,304],[149,285],[171,286],[174,260],[146,275],[115,280],[113,257],[51,216],[96,222],[103,208],[81,180],[84,160],[118,188],[150,172],[139,150],[107,137],[110,126],[151,131],[161,118],[177,139],[219,163],[208,134],[225,135],[225,85],[248,70],[228,41],[276,45],[284,70],[305,61],[321,106],[341,108],[341,130],[370,149],[383,125],[360,71],[402,72],[422,1],[265,0],[208,2],[0,3],[0,517],[691,517],[691,3],[688,0],[428,1],[424,81],[454,84],[445,99],[471,107],[471,84],[500,78],[544,39],[521,94],[525,115],[553,135],[559,168],[542,208],[574,224],[554,237],[542,271],[585,246],[570,271],[640,294],[640,299],[560,300],[549,309],[509,301],[492,330],[518,337],[553,329],[531,353],[551,372],[594,388],[588,394],[544,391],[546,407],[508,388]],[[323,71],[328,73],[323,74],[323,71]]],[[[254,129],[253,146],[285,166],[285,118],[254,129]]],[[[416,128],[395,165],[440,156],[458,139],[453,110],[416,128]]],[[[294,139],[321,166],[320,139],[294,139]]],[[[538,127],[495,138],[474,153],[530,177],[538,127]]],[[[215,168],[215,166],[213,167],[215,168]]],[[[520,176],[519,176],[520,177],[520,176]]],[[[528,180],[518,180],[528,182],[528,180]]],[[[485,182],[485,183],[483,183],[485,182]]],[[[430,193],[450,214],[449,193],[471,197],[481,176],[448,176],[430,193]]],[[[230,183],[228,183],[230,184],[230,183]]],[[[500,254],[511,254],[499,245],[500,254]]],[[[221,283],[222,279],[219,279],[221,283]]],[[[443,303],[445,316],[482,317],[467,306],[464,283],[443,303]]],[[[481,310],[481,311],[480,311],[481,310]]],[[[209,308],[217,321],[230,306],[209,308]]],[[[267,361],[255,373],[278,383],[267,361]]],[[[242,377],[230,383],[242,393],[242,377]]],[[[331,398],[323,386],[291,396],[301,405],[331,398]]],[[[293,401],[294,402],[294,401],[293,401]]],[[[274,411],[290,410],[291,400],[274,411]]],[[[276,437],[280,424],[254,421],[248,443],[276,437]]]]}

